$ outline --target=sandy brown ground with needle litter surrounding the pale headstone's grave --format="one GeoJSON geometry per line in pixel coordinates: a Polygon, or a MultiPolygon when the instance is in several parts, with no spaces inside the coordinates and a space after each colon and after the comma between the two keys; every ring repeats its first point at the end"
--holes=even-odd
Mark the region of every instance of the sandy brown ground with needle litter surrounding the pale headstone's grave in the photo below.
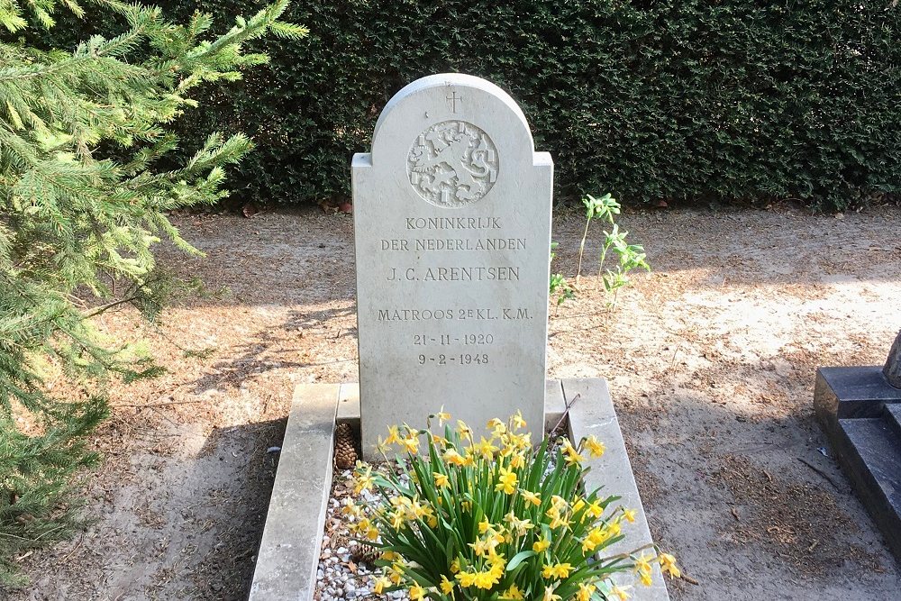
{"type": "MultiPolygon", "coordinates": [[[[23,557],[32,585],[0,597],[243,599],[292,387],[356,379],[349,217],[177,223],[206,257],[165,250],[162,263],[206,293],[158,324],[124,309],[98,320],[149,341],[168,372],[111,388],[114,416],[94,437],[105,465],[86,475],[94,523],[23,557]]],[[[555,215],[556,270],[575,270],[583,224],[555,215]]],[[[654,271],[612,316],[582,279],[551,317],[550,376],[610,381],[651,529],[691,578],[672,597],[896,599],[901,572],[824,455],[812,396],[817,366],[881,363],[901,328],[901,210],[672,210],[622,224],[654,271]]]]}

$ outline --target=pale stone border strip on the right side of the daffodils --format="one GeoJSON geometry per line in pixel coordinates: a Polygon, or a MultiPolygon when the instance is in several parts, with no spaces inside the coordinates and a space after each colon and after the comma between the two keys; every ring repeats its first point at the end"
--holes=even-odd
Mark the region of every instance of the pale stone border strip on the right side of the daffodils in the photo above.
{"type": "MultiPolygon", "coordinates": [[[[636,510],[635,523],[625,524],[626,538],[605,550],[605,554],[626,553],[651,544],[651,528],[644,513],[642,497],[625,449],[623,433],[616,418],[613,401],[603,378],[572,378],[562,380],[563,394],[569,404],[569,438],[575,443],[594,434],[604,442],[606,451],[598,459],[587,459],[586,490],[603,486],[605,495],[620,496],[620,504],[636,510]]],[[[652,552],[652,551],[651,551],[652,552]]],[[[614,577],[620,584],[633,584],[632,574],[614,577]]],[[[669,592],[660,567],[654,564],[653,585],[636,586],[633,601],[669,601],[669,592]]]]}

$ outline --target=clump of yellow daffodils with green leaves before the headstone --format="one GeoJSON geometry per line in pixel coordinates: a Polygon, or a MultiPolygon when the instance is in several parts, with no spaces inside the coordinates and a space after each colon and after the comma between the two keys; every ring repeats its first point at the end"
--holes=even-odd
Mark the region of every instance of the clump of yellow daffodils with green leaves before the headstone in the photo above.
{"type": "Polygon", "coordinates": [[[604,453],[602,442],[545,439],[536,449],[525,427],[519,413],[493,419],[490,436],[476,441],[466,423],[451,426],[442,408],[424,430],[388,429],[379,444],[386,464],[358,464],[358,502],[344,507],[359,541],[381,551],[377,594],[403,588],[413,600],[623,601],[629,587],[615,585],[614,572],[633,570],[650,585],[657,561],[679,577],[667,553],[604,557],[635,513],[617,497],[583,489],[583,463],[604,453]]]}

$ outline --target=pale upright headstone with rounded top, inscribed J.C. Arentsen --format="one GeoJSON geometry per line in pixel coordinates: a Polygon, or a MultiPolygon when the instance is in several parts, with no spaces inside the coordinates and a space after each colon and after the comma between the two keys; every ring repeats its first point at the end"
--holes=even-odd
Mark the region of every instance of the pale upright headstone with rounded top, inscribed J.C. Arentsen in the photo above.
{"type": "Polygon", "coordinates": [[[444,405],[478,435],[544,423],[553,162],[513,98],[478,77],[423,77],[353,157],[360,423],[373,459],[390,424],[444,405]]]}

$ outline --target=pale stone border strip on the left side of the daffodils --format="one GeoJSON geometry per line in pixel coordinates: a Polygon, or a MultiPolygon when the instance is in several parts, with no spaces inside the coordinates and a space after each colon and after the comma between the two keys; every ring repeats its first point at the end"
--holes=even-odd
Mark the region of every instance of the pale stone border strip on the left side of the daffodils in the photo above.
{"type": "Polygon", "coordinates": [[[249,601],[312,601],[332,488],[339,384],[296,387],[249,601]]]}

